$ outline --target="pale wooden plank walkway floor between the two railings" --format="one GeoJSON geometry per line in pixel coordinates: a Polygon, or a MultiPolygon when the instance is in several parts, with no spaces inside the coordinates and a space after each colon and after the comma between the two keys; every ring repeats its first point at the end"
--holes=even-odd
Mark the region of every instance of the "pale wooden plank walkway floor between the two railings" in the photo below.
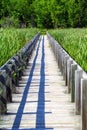
{"type": "Polygon", "coordinates": [[[47,37],[37,43],[0,130],[80,130],[80,116],[70,102],[67,86],[47,37]]]}

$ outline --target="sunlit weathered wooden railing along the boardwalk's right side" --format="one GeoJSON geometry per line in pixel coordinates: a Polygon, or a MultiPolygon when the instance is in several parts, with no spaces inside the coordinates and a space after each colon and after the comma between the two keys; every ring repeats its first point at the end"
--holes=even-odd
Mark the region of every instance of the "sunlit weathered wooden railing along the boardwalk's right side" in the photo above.
{"type": "Polygon", "coordinates": [[[87,130],[87,74],[49,33],[47,36],[68,93],[71,93],[71,102],[75,102],[76,114],[81,115],[82,130],[87,130]]]}

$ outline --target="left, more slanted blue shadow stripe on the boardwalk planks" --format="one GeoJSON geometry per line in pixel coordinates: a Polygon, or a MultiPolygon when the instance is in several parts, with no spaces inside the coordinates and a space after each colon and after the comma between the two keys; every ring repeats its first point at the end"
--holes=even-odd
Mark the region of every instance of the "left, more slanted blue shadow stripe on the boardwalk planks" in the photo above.
{"type": "Polygon", "coordinates": [[[35,58],[34,58],[34,61],[33,61],[33,65],[32,65],[31,71],[30,71],[29,79],[28,79],[27,85],[25,87],[25,90],[24,90],[24,93],[23,93],[23,97],[22,97],[20,106],[18,108],[16,117],[15,117],[15,121],[13,123],[12,130],[14,130],[14,129],[17,130],[20,127],[20,122],[21,122],[24,106],[25,106],[25,103],[26,103],[28,90],[30,88],[30,84],[31,84],[31,81],[32,81],[33,72],[34,72],[34,68],[35,68],[35,64],[36,64],[36,59],[37,59],[37,56],[38,56],[39,47],[40,47],[40,42],[38,43],[36,55],[35,55],[35,58]]]}

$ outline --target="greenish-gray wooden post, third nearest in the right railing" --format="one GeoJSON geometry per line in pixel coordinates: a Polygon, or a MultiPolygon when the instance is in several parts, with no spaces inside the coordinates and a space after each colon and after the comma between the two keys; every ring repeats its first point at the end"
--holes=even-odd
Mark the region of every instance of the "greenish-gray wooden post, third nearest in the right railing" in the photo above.
{"type": "Polygon", "coordinates": [[[75,71],[77,70],[77,64],[71,65],[71,80],[70,80],[70,88],[71,88],[71,102],[75,102],[75,71]]]}

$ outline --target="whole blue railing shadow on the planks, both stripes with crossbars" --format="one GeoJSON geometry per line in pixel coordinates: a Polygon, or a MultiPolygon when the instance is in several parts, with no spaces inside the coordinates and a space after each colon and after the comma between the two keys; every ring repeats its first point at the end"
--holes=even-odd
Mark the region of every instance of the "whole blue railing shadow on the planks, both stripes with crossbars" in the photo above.
{"type": "MultiPolygon", "coordinates": [[[[42,39],[42,57],[41,57],[41,68],[40,68],[40,85],[39,85],[39,92],[38,92],[38,105],[37,105],[37,112],[33,113],[24,113],[24,107],[27,99],[27,94],[30,88],[30,84],[32,82],[32,77],[33,77],[33,72],[34,68],[36,65],[36,59],[38,56],[38,51],[39,51],[40,43],[38,44],[37,47],[37,52],[36,56],[34,58],[34,62],[30,71],[30,76],[27,82],[27,85],[25,87],[23,97],[19,106],[19,109],[17,113],[7,113],[7,115],[16,115],[16,118],[13,123],[13,127],[11,130],[52,130],[53,128],[46,128],[45,127],[45,114],[50,113],[50,112],[45,112],[45,53],[44,53],[44,37],[42,39]],[[36,114],[36,128],[24,128],[20,129],[20,122],[22,119],[23,114],[36,114]]],[[[33,101],[35,102],[35,101],[33,101]]],[[[15,102],[14,102],[15,103],[15,102]]],[[[16,101],[16,103],[19,103],[16,101]]],[[[3,129],[3,130],[10,130],[10,129],[3,129]]]]}

